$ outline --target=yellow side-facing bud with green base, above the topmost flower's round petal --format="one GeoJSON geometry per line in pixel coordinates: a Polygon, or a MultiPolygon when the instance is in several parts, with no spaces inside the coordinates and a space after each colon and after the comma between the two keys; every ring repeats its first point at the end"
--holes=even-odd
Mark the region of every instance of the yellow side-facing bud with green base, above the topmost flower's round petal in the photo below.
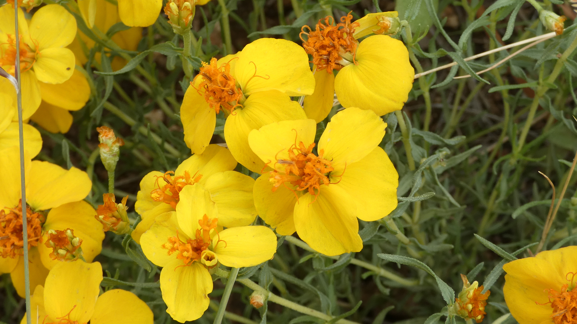
{"type": "Polygon", "coordinates": [[[355,27],[354,39],[370,35],[395,35],[401,28],[407,25],[407,21],[399,20],[398,12],[369,13],[365,17],[358,19],[359,26],[355,27]]]}

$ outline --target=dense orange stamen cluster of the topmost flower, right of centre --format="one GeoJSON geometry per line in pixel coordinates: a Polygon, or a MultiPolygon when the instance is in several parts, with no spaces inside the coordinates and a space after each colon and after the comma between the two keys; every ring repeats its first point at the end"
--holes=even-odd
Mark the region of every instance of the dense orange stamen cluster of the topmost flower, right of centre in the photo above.
{"type": "Polygon", "coordinates": [[[358,42],[353,38],[355,27],[358,27],[358,22],[352,22],[353,16],[349,13],[347,16],[340,18],[340,23],[332,25],[331,16],[319,20],[316,24],[315,30],[312,31],[309,26],[305,25],[301,29],[299,37],[302,40],[302,47],[308,54],[313,55],[313,63],[317,66],[317,70],[340,70],[344,66],[342,56],[346,53],[351,54],[354,61],[354,56],[357,52],[358,42]],[[309,32],[305,32],[305,28],[309,32]],[[305,41],[302,35],[307,35],[308,39],[305,41]]]}

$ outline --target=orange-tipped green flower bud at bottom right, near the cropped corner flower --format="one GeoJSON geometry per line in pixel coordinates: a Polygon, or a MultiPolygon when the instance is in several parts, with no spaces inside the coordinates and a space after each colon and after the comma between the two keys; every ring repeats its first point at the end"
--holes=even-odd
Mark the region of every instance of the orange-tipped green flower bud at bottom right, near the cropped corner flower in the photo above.
{"type": "Polygon", "coordinates": [[[470,284],[464,274],[461,274],[461,279],[463,280],[463,289],[459,292],[458,297],[455,298],[454,312],[466,321],[474,319],[477,323],[481,323],[486,314],[486,300],[491,292],[481,293],[483,286],[478,287],[479,282],[477,281],[473,281],[473,284],[470,284]]]}

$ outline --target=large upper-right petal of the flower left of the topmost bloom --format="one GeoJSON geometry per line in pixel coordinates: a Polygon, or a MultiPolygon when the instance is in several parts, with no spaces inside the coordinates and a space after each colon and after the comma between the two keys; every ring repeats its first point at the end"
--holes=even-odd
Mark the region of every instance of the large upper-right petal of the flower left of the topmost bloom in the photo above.
{"type": "Polygon", "coordinates": [[[234,77],[245,96],[278,90],[289,96],[312,95],[314,77],[309,56],[297,43],[261,38],[245,46],[238,56],[234,77]]]}

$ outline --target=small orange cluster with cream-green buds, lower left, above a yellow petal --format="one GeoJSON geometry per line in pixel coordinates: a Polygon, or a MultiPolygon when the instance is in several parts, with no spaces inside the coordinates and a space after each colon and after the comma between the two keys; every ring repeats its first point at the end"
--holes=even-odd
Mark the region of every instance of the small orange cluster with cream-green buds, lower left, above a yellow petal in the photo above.
{"type": "Polygon", "coordinates": [[[65,231],[50,229],[48,239],[44,243],[53,251],[50,258],[57,261],[74,261],[82,257],[82,240],[74,236],[74,231],[66,228],[65,231]]]}

